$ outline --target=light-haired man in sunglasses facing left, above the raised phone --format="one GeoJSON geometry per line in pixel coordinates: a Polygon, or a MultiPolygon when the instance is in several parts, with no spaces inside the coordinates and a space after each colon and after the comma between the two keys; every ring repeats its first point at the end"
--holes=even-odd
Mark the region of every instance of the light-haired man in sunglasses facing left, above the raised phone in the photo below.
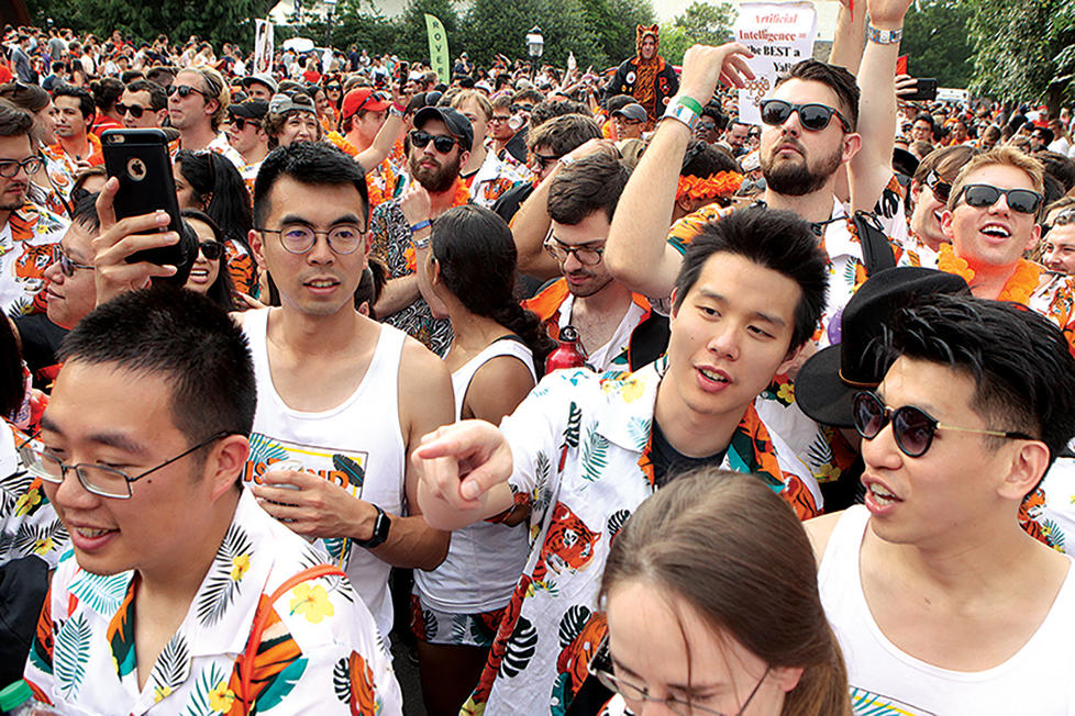
{"type": "Polygon", "coordinates": [[[236,168],[245,164],[220,131],[231,103],[231,92],[220,72],[211,67],[184,69],[167,91],[168,118],[171,126],[179,130],[179,138],[168,146],[173,157],[180,149],[215,152],[236,168]]]}

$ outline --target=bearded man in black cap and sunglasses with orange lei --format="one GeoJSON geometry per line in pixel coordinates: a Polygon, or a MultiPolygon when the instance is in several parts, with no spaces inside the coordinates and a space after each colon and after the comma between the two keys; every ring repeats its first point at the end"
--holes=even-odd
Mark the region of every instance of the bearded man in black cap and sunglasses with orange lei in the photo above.
{"type": "MultiPolygon", "coordinates": [[[[414,115],[409,135],[407,164],[411,178],[429,192],[430,216],[436,219],[452,206],[467,203],[469,191],[459,179],[459,169],[470,156],[474,130],[456,110],[426,107],[414,115]]],[[[406,331],[437,355],[452,343],[452,326],[446,318],[434,318],[418,289],[418,275],[409,266],[407,249],[413,235],[429,222],[411,226],[400,200],[379,205],[370,219],[370,251],[388,267],[390,279],[380,293],[374,312],[379,320],[406,331]]]]}

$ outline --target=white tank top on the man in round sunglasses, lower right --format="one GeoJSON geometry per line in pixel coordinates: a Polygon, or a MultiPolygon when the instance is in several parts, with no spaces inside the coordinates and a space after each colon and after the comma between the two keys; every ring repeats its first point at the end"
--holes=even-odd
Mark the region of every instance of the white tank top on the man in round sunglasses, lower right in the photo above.
{"type": "Polygon", "coordinates": [[[1075,715],[1075,570],[1041,626],[1004,663],[985,671],[941,669],[901,651],[874,622],[858,553],[869,513],[847,510],[818,571],[821,603],[847,663],[855,714],[906,716],[1075,715]]]}

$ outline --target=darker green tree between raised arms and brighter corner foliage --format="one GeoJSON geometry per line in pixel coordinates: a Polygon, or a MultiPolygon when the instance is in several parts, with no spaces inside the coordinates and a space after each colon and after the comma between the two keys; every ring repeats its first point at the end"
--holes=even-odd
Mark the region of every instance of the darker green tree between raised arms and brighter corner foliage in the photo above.
{"type": "Polygon", "coordinates": [[[900,53],[915,77],[935,77],[941,87],[966,88],[974,72],[967,22],[971,8],[958,0],[911,5],[904,21],[900,53]]]}

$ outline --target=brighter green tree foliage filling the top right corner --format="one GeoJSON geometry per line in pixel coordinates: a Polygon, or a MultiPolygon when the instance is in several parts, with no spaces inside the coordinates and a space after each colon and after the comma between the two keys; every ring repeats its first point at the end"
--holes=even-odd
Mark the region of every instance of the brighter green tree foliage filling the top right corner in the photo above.
{"type": "Polygon", "coordinates": [[[1075,8],[1071,0],[965,0],[974,48],[971,88],[1012,100],[1044,100],[1055,114],[1073,96],[1075,8]]]}

